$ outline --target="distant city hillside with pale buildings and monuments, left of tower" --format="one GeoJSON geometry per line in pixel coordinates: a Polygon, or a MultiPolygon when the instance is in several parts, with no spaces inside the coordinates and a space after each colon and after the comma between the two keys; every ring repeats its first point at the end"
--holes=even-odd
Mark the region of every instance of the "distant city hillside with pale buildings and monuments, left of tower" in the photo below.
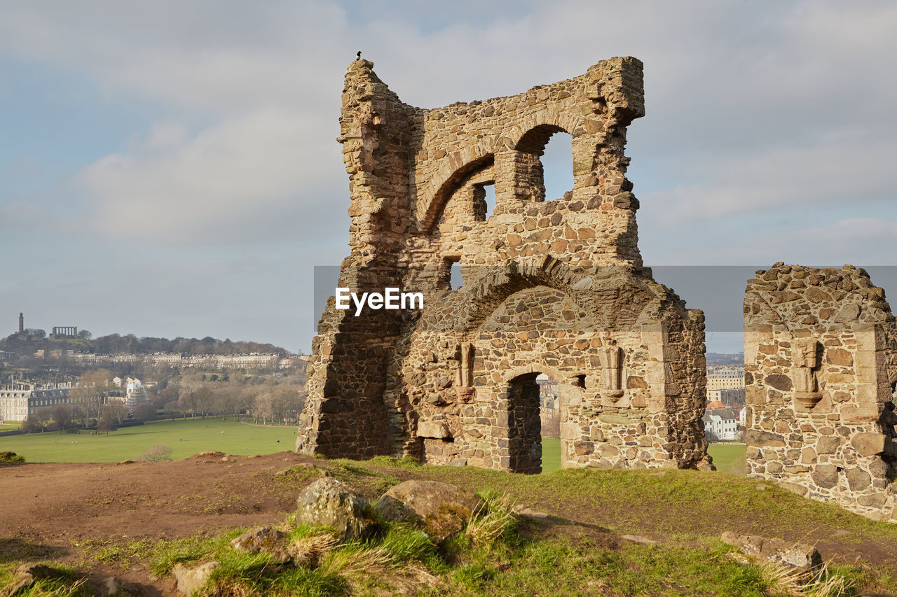
{"type": "MultiPolygon", "coordinates": [[[[60,411],[56,415],[53,411],[60,406],[76,407],[79,398],[74,394],[88,386],[102,389],[91,398],[96,402],[97,418],[100,410],[118,405],[118,418],[123,420],[151,402],[147,388],[156,390],[160,385],[169,385],[172,376],[182,378],[186,371],[196,371],[191,376],[210,381],[229,379],[229,371],[244,372],[254,378],[283,378],[294,376],[297,371],[304,376],[307,361],[305,356],[257,342],[219,341],[211,337],[170,341],[118,334],[91,340],[90,332],[74,325],[55,325],[50,329],[48,334],[40,328],[25,327],[24,314],[20,313],[18,330],[0,339],[0,422],[58,419],[60,411]],[[119,350],[100,352],[96,350],[98,346],[119,350]],[[183,350],[144,351],[169,346],[183,350]],[[132,350],[120,350],[126,347],[132,350]],[[267,350],[234,351],[246,348],[267,350]],[[99,371],[103,378],[91,376],[91,371],[99,371]],[[117,371],[121,374],[115,375],[117,371]],[[144,384],[130,372],[151,376],[152,381],[144,384]]],[[[153,412],[157,406],[163,405],[154,405],[153,412]]],[[[89,413],[85,420],[90,420],[89,413]]]]}

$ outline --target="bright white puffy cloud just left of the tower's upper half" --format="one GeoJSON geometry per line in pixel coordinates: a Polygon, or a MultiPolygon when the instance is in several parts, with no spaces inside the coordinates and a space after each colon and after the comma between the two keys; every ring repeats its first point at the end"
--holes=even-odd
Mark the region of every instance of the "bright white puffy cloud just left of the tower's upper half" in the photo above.
{"type": "Polygon", "coordinates": [[[296,226],[314,234],[322,212],[339,220],[345,211],[347,201],[326,199],[337,195],[333,175],[342,160],[336,143],[300,140],[333,129],[313,115],[277,109],[193,136],[157,125],[76,177],[93,198],[83,221],[97,235],[188,245],[265,239],[296,226]]]}

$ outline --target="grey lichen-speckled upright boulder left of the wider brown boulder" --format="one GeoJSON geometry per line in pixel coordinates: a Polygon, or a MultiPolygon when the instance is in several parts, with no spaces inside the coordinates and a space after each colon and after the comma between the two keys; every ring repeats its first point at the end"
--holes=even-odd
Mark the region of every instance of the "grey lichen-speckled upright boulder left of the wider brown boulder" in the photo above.
{"type": "Polygon", "coordinates": [[[364,537],[377,528],[377,517],[367,499],[333,477],[305,488],[296,499],[296,523],[328,526],[340,539],[364,537]]]}

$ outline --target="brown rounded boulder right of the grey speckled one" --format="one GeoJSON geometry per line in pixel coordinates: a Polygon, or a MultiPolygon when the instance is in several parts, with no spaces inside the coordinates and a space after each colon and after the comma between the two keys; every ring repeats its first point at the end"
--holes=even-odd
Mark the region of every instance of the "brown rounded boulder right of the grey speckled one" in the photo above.
{"type": "Polygon", "coordinates": [[[377,501],[380,515],[420,526],[435,541],[460,531],[483,501],[451,483],[407,480],[389,488],[377,501]]]}

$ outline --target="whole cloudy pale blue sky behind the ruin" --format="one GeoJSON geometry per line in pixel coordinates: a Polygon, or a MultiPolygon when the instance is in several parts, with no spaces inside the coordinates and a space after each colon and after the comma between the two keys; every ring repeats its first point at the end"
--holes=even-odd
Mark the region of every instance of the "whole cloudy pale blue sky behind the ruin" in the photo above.
{"type": "MultiPolygon", "coordinates": [[[[636,56],[646,264],[895,264],[895,33],[884,1],[0,4],[0,335],[22,311],[308,352],[313,267],[348,251],[358,50],[423,108],[636,56]]],[[[544,162],[562,195],[569,138],[544,162]]]]}

